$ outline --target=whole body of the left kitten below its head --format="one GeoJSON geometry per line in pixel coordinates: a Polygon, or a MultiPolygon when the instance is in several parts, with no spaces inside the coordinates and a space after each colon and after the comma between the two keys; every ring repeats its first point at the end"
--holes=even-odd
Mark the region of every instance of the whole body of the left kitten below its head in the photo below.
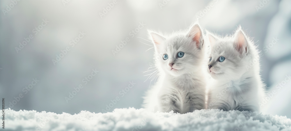
{"type": "Polygon", "coordinates": [[[144,107],[149,111],[187,113],[205,109],[205,83],[203,75],[184,74],[179,77],[159,76],[148,92],[144,107]],[[200,76],[200,78],[198,78],[200,76]]]}

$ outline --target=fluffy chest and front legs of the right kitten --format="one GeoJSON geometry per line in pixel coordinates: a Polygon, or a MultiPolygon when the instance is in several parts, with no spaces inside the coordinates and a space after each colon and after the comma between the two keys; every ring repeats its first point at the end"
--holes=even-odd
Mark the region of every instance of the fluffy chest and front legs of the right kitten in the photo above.
{"type": "Polygon", "coordinates": [[[210,90],[208,108],[228,110],[258,110],[258,83],[253,77],[216,81],[210,90]]]}

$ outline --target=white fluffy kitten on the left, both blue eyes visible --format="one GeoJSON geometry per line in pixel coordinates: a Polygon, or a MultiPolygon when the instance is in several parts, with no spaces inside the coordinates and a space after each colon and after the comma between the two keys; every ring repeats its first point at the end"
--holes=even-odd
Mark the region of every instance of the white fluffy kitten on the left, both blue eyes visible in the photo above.
{"type": "Polygon", "coordinates": [[[154,32],[150,32],[150,36],[155,47],[159,78],[144,97],[143,107],[154,112],[173,110],[175,113],[205,109],[202,70],[205,44],[200,26],[194,24],[185,33],[167,37],[154,32]]]}

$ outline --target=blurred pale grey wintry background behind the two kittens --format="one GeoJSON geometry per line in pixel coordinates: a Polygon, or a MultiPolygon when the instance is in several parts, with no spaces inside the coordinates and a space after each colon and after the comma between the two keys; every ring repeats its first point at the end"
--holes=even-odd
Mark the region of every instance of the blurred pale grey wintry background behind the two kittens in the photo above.
{"type": "Polygon", "coordinates": [[[219,35],[232,34],[241,25],[254,37],[262,79],[267,91],[276,92],[263,111],[291,118],[291,81],[285,81],[291,74],[290,0],[23,0],[9,10],[11,4],[0,1],[0,96],[13,110],[74,114],[141,108],[142,96],[154,84],[143,73],[153,63],[147,29],[179,31],[199,17],[204,29],[219,35]],[[40,26],[43,20],[48,22],[40,26]],[[42,28],[37,34],[36,27],[42,28]],[[72,47],[80,31],[86,35],[72,47]],[[33,38],[17,52],[15,47],[29,35],[33,38]],[[127,37],[130,41],[114,54],[127,37]],[[54,64],[67,47],[70,51],[54,64]],[[93,69],[99,72],[85,84],[93,69]],[[25,87],[35,78],[39,82],[28,91],[25,87]],[[136,84],[126,88],[130,82],[136,84]],[[278,83],[285,85],[279,89],[278,83]],[[79,84],[84,88],[67,102],[65,97],[79,84]],[[19,94],[23,98],[13,104],[19,94]],[[120,100],[115,103],[116,97],[120,100]]]}

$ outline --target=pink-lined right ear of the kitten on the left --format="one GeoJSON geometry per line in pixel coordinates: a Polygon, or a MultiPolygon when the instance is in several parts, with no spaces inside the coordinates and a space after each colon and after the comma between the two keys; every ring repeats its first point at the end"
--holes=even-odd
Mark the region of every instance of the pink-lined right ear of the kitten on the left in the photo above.
{"type": "Polygon", "coordinates": [[[188,36],[195,42],[196,47],[201,49],[203,46],[203,32],[198,24],[194,24],[188,33],[188,36]]]}

